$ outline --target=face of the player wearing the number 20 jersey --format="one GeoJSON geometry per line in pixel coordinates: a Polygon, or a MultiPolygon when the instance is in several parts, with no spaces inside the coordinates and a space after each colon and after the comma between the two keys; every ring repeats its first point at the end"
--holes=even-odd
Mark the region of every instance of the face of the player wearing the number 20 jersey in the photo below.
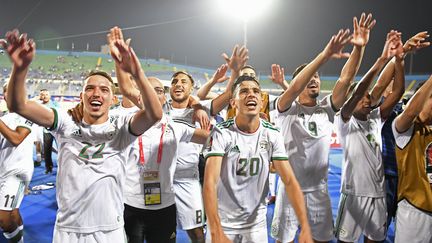
{"type": "Polygon", "coordinates": [[[238,114],[259,116],[262,108],[261,89],[255,81],[243,81],[233,99],[238,114]]]}

